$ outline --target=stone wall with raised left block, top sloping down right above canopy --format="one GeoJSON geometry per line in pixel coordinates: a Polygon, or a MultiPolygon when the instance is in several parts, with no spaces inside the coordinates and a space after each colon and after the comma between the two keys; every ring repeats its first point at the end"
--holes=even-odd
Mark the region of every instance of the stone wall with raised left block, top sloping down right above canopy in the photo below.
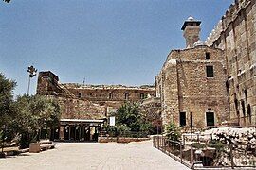
{"type": "Polygon", "coordinates": [[[57,98],[63,108],[62,118],[103,119],[106,117],[105,107],[79,99],[59,83],[59,77],[50,71],[39,73],[37,94],[57,98]]]}

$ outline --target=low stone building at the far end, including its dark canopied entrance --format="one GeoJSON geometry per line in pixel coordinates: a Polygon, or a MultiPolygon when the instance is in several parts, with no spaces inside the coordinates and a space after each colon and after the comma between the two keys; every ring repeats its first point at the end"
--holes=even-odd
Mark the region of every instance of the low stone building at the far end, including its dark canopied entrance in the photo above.
{"type": "Polygon", "coordinates": [[[155,96],[155,87],[60,83],[58,76],[46,71],[39,73],[37,94],[57,98],[62,105],[60,127],[53,138],[91,141],[96,140],[109,113],[127,101],[155,96]]]}

